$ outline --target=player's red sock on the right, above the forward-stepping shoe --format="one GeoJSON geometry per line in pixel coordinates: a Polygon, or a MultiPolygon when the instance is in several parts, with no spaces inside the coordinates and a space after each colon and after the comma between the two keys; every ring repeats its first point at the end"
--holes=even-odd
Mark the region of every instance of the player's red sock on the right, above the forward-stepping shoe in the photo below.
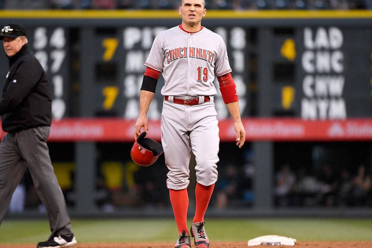
{"type": "Polygon", "coordinates": [[[196,183],[195,198],[196,198],[196,211],[192,223],[204,221],[204,214],[207,210],[209,200],[211,199],[214,184],[204,186],[196,183]]]}

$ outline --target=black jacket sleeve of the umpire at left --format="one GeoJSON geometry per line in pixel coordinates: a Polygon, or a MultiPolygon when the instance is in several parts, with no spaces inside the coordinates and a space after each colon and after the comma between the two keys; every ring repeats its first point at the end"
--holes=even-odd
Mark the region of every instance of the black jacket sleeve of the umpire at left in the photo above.
{"type": "Polygon", "coordinates": [[[41,75],[42,71],[34,61],[21,62],[16,73],[10,78],[9,86],[0,101],[0,115],[14,110],[28,96],[41,75]]]}

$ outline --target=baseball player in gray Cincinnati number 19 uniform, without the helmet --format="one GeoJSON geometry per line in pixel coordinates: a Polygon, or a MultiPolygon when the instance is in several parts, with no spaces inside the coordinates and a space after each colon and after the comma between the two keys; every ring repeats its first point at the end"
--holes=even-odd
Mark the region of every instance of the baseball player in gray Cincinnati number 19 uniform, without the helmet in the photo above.
{"type": "Polygon", "coordinates": [[[217,181],[219,129],[213,97],[217,76],[222,98],[234,119],[236,144],[241,148],[246,133],[240,119],[238,94],[227,57],[226,45],[217,33],[201,26],[206,14],[204,0],[182,0],[182,24],[159,33],[145,62],[140,93],[140,114],[135,139],[144,127],[148,132],[147,111],[155,94],[160,73],[165,84],[161,113],[161,143],[169,173],[167,187],[179,236],[175,248],[209,247],[204,214],[217,181]],[[190,232],[186,217],[189,197],[190,151],[196,159],[196,212],[190,232]]]}

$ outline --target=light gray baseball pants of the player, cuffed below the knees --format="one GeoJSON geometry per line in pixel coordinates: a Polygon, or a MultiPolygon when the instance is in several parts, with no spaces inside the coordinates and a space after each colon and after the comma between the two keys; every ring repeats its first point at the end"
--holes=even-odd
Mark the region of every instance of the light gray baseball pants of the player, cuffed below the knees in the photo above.
{"type": "Polygon", "coordinates": [[[161,145],[169,169],[169,189],[182,190],[189,185],[191,150],[196,160],[196,181],[204,186],[217,181],[218,133],[217,111],[212,97],[209,102],[193,106],[163,102],[161,145]]]}

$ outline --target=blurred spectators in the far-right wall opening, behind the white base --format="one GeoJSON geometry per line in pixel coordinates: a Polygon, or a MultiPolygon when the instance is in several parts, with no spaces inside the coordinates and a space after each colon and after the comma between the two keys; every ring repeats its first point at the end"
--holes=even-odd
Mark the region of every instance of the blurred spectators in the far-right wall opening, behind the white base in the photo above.
{"type": "Polygon", "coordinates": [[[318,172],[294,171],[288,164],[276,173],[275,206],[372,206],[371,176],[360,164],[356,171],[323,164],[318,172]]]}

